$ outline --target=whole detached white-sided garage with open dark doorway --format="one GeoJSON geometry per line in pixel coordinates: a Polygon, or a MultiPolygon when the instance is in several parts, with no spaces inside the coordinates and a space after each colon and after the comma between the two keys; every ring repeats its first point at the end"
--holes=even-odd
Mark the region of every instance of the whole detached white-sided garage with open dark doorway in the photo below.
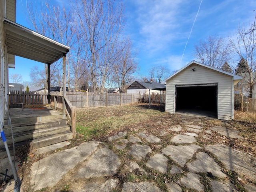
{"type": "Polygon", "coordinates": [[[208,113],[234,119],[234,85],[241,76],[192,61],[165,80],[166,112],[208,113]]]}

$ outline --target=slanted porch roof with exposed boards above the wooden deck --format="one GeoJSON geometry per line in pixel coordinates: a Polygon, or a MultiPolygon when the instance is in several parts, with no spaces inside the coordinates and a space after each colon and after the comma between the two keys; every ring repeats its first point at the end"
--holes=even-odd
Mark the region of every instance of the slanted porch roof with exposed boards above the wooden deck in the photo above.
{"type": "Polygon", "coordinates": [[[70,47],[4,18],[7,53],[52,64],[67,54],[70,47]]]}

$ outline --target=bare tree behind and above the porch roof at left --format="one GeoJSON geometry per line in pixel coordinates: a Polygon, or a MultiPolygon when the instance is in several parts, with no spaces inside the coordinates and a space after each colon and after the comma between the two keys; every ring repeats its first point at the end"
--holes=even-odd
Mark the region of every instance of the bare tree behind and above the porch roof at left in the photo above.
{"type": "MultiPolygon", "coordinates": [[[[50,6],[49,2],[44,1],[40,2],[40,12],[37,12],[38,9],[33,4],[32,1],[27,1],[27,10],[28,10],[28,19],[32,24],[32,27],[40,34],[44,36],[48,36],[62,44],[66,44],[67,46],[74,46],[74,44],[78,41],[76,38],[76,25],[74,22],[73,12],[70,9],[68,12],[63,6],[60,8],[59,6],[52,5],[50,6]]],[[[75,47],[75,46],[74,46],[75,47]]],[[[74,50],[72,47],[72,50],[74,50]]],[[[68,71],[68,88],[70,89],[70,63],[69,57],[70,52],[67,54],[67,71],[68,71]]],[[[44,66],[44,70],[46,70],[43,74],[47,76],[47,67],[44,66]]],[[[61,61],[57,61],[52,64],[50,67],[51,73],[51,86],[62,86],[62,65],[61,61]]],[[[44,79],[47,80],[45,77],[44,79]]],[[[48,84],[45,83],[47,87],[48,84]]]]}

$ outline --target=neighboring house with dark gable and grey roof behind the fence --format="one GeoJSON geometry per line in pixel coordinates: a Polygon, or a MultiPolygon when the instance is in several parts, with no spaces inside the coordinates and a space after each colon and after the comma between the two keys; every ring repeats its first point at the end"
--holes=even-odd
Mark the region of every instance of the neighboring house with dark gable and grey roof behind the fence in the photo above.
{"type": "Polygon", "coordinates": [[[148,95],[149,93],[152,94],[162,94],[165,93],[165,88],[166,86],[161,83],[156,83],[152,81],[147,81],[147,82],[138,82],[135,81],[133,82],[128,88],[127,88],[127,93],[129,94],[139,94],[140,95],[148,95]]]}

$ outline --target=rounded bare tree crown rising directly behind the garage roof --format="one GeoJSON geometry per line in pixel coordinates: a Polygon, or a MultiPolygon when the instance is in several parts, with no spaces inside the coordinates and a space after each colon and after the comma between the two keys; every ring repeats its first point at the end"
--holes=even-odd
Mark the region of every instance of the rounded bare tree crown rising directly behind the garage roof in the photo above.
{"type": "Polygon", "coordinates": [[[230,54],[230,45],[218,35],[209,36],[205,41],[200,40],[194,45],[193,56],[203,64],[215,68],[220,68],[230,60],[230,54]]]}

